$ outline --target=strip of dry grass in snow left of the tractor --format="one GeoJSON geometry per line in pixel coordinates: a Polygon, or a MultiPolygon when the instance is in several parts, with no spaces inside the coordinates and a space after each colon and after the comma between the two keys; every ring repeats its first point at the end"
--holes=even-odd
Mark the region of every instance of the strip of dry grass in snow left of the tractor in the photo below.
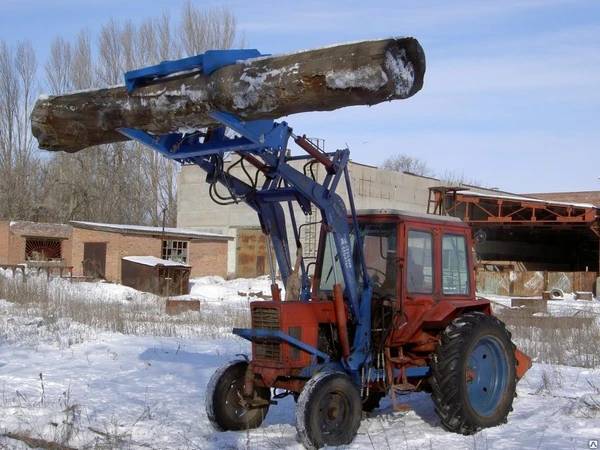
{"type": "Polygon", "coordinates": [[[27,282],[0,276],[0,299],[6,300],[0,306],[0,337],[54,341],[68,347],[84,342],[94,332],[220,338],[230,335],[233,327],[249,326],[248,308],[239,302],[202,302],[200,312],[172,316],[165,313],[163,297],[147,293],[130,298],[82,297],[81,290],[72,286],[62,280],[48,282],[45,276],[31,276],[27,282]]]}

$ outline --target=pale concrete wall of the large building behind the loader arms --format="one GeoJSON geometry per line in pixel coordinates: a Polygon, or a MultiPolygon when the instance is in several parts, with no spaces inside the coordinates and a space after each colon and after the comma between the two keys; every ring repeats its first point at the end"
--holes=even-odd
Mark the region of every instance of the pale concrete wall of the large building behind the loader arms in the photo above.
{"type": "MultiPolygon", "coordinates": [[[[294,161],[291,164],[302,171],[302,166],[306,161],[294,161]]],[[[322,182],[325,177],[323,167],[314,165],[316,178],[322,182]]],[[[353,191],[354,202],[357,209],[384,209],[394,208],[415,212],[427,212],[429,201],[429,188],[440,185],[448,185],[435,178],[421,177],[417,175],[400,173],[390,170],[378,169],[376,167],[366,166],[357,163],[349,163],[349,173],[353,191]]],[[[239,170],[233,170],[233,173],[242,180],[247,180],[247,176],[240,174],[239,170]]],[[[238,230],[244,228],[256,227],[260,224],[256,213],[245,203],[240,202],[232,205],[218,205],[209,194],[209,185],[206,183],[206,173],[196,165],[185,165],[179,174],[178,192],[177,192],[177,226],[192,230],[208,231],[214,233],[228,234],[238,238],[238,230]]],[[[494,192],[487,189],[469,187],[475,191],[494,192]]],[[[226,195],[226,189],[218,185],[218,192],[226,195]]],[[[337,193],[344,199],[348,205],[348,194],[344,180],[341,180],[337,193]]],[[[284,206],[287,216],[287,207],[284,206]]],[[[319,221],[318,214],[304,217],[304,214],[298,206],[294,207],[298,224],[305,222],[319,221]]],[[[316,226],[313,227],[313,231],[316,226]]],[[[303,230],[309,231],[310,227],[304,227],[303,230]]],[[[292,249],[292,259],[295,258],[295,245],[293,243],[293,231],[288,220],[288,239],[292,249]]],[[[316,233],[318,234],[318,233],[316,233]]],[[[307,236],[301,236],[303,241],[303,250],[305,257],[314,255],[307,249],[309,239],[307,236]]],[[[231,242],[228,247],[228,275],[237,276],[237,242],[231,242]]],[[[268,271],[268,267],[267,267],[268,271]]]]}

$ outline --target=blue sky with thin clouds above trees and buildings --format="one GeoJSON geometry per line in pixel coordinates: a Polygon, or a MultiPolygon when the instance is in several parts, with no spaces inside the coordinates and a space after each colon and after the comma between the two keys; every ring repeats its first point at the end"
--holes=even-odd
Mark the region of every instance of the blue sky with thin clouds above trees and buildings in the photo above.
{"type": "MultiPolygon", "coordinates": [[[[30,40],[40,67],[52,39],[134,24],[184,0],[0,0],[0,41],[30,40]]],[[[245,47],[277,54],[414,36],[425,50],[421,92],[407,100],[284,118],[296,134],[348,147],[353,161],[420,158],[516,194],[600,190],[600,2],[597,0],[220,0],[245,47]]]]}

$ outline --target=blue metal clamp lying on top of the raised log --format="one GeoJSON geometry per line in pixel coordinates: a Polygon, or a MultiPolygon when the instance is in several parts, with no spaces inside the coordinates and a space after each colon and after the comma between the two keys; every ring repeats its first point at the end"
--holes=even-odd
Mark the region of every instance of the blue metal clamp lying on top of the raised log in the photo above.
{"type": "Polygon", "coordinates": [[[163,61],[155,66],[126,72],[125,89],[128,93],[131,93],[133,90],[147,85],[156,78],[163,78],[177,72],[185,72],[188,70],[202,70],[202,72],[208,75],[223,66],[235,64],[237,61],[256,58],[258,56],[268,55],[261,55],[256,49],[208,50],[201,55],[190,56],[189,58],[178,59],[175,61],[163,61]]]}

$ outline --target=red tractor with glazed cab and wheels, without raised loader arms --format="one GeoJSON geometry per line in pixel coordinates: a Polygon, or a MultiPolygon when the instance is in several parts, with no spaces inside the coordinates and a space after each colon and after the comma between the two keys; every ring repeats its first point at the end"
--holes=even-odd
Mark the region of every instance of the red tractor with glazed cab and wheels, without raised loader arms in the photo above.
{"type": "Polygon", "coordinates": [[[471,229],[391,210],[361,212],[357,223],[347,259],[323,226],[309,301],[252,302],[252,328],[234,330],[252,340],[252,360],[214,374],[210,420],[257,427],[275,388],[297,398],[307,448],[349,443],[385,395],[402,409],[399,392],[431,392],[442,424],[458,433],[506,422],[530,360],[475,297],[471,229]],[[344,264],[361,281],[348,285],[344,264]],[[361,297],[356,318],[350,290],[361,297]]]}

